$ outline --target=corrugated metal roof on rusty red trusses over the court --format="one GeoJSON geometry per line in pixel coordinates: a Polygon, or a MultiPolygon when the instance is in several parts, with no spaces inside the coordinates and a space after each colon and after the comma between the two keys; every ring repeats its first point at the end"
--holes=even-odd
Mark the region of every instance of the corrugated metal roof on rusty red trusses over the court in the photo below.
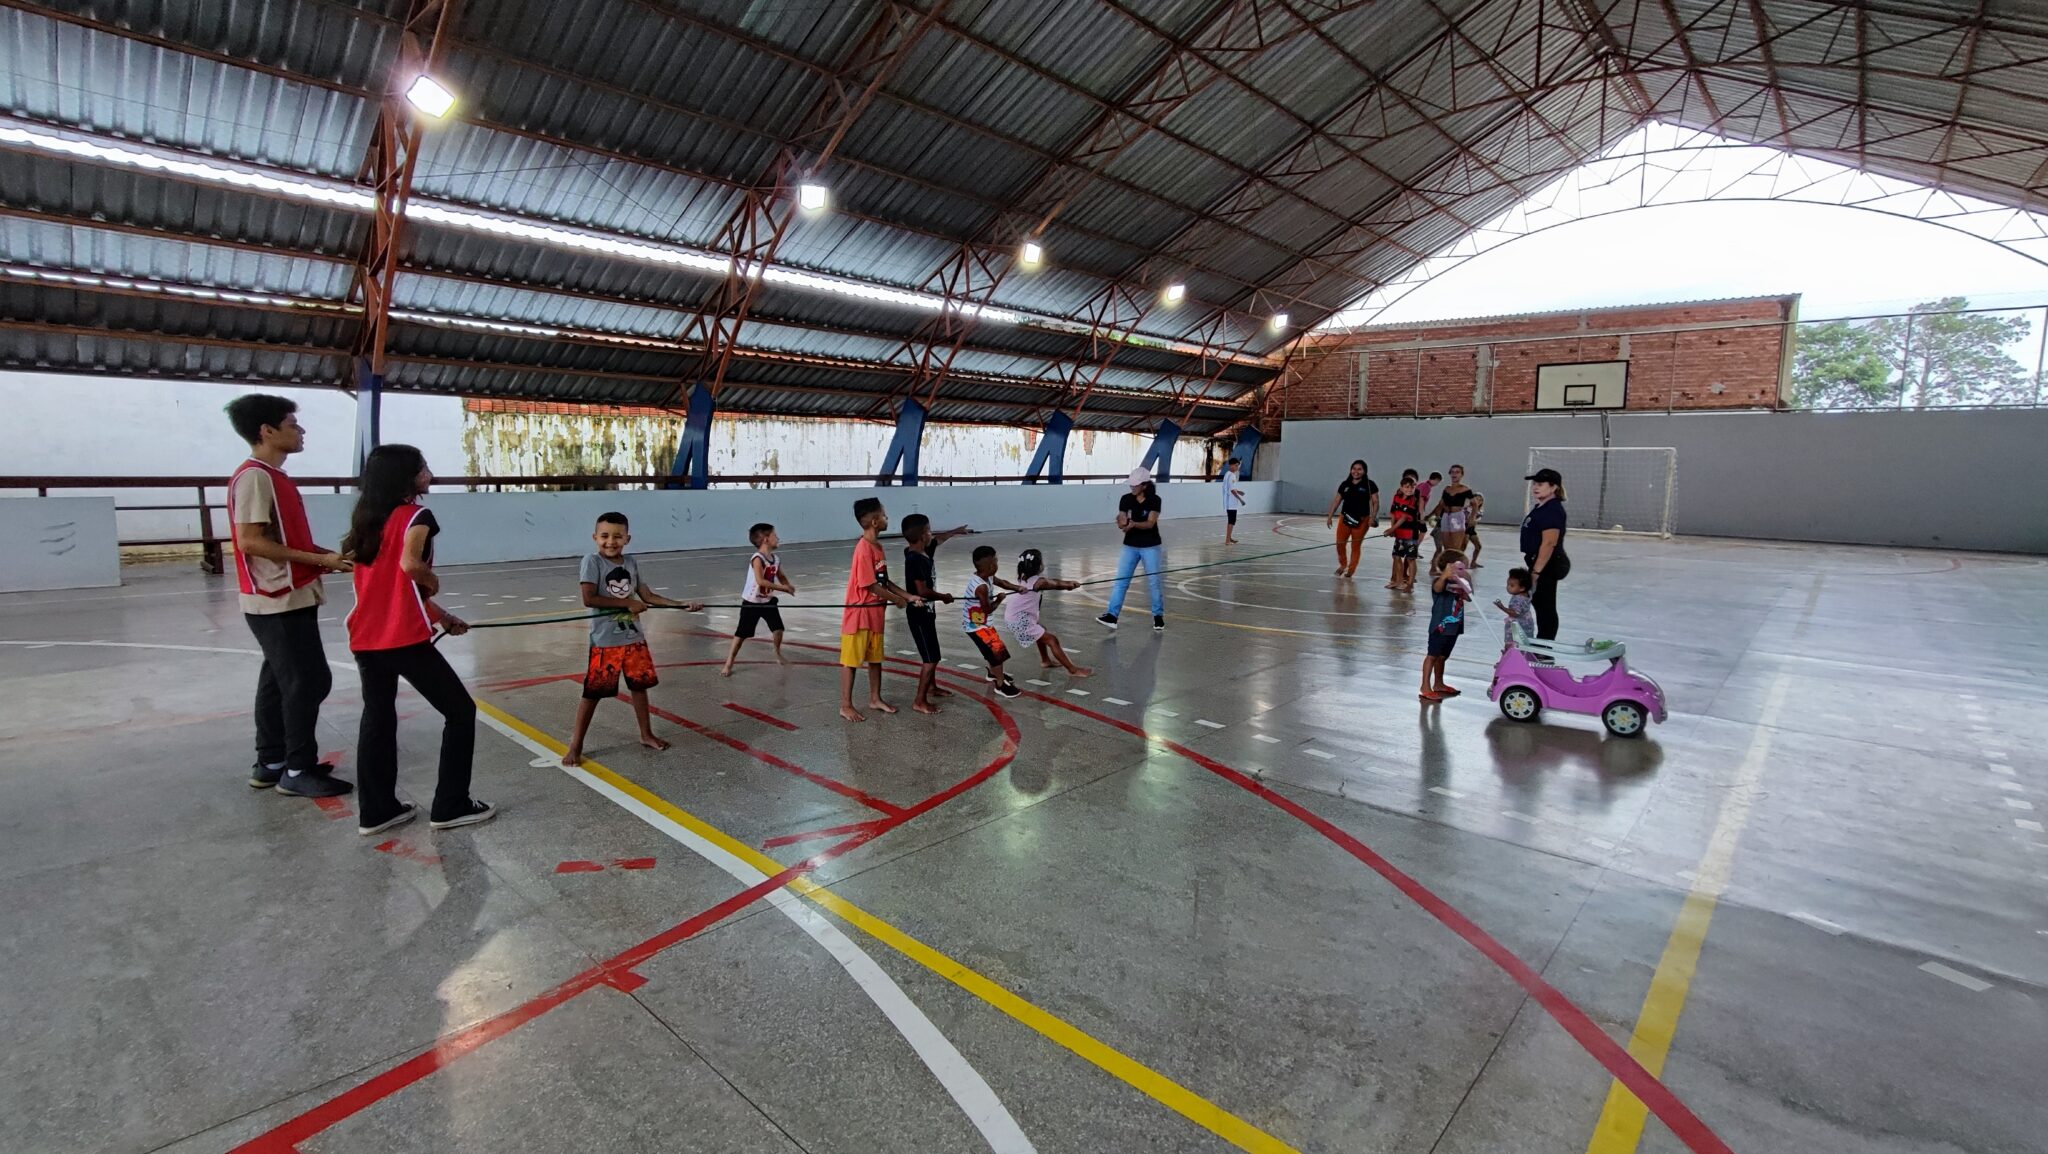
{"type": "MultiPolygon", "coordinates": [[[[1044,234],[1053,264],[1008,277],[997,305],[1077,318],[1112,279],[1149,264],[1155,287],[1178,277],[1192,299],[1153,307],[1135,324],[1124,318],[1137,332],[1188,340],[1210,328],[1219,307],[1253,303],[1290,312],[1303,330],[1573,160],[1622,139],[1645,113],[1774,141],[1786,137],[1780,105],[1798,150],[2044,207],[2048,25],[2036,6],[2001,2],[1978,16],[1933,0],[1862,12],[1800,0],[1755,0],[1755,8],[1751,0],[1671,0],[1675,25],[1665,8],[1663,0],[1593,8],[1608,25],[1591,29],[1577,8],[1546,16],[1513,0],[1337,8],[963,0],[901,53],[844,133],[821,170],[834,211],[797,221],[776,260],[918,287],[965,240],[1014,244],[1016,236],[989,234],[991,221],[1020,203],[1042,211],[1042,193],[1063,189],[1067,199],[1044,234]],[[1561,35],[1559,18],[1581,20],[1585,35],[1561,35]],[[1855,43],[1851,20],[1868,33],[1866,76],[1839,59],[1841,45],[1855,43]],[[1649,109],[1632,80],[1608,76],[1612,64],[1593,47],[1602,35],[1638,61],[1634,82],[1649,109]],[[1176,41],[1208,59],[1178,55],[1176,41]],[[1688,51],[1698,76],[1688,74],[1688,51]],[[1968,76],[1962,59],[1972,61],[1968,76]],[[1214,78],[1214,68],[1229,76],[1214,78]],[[1202,88],[1186,100],[1116,111],[1133,96],[1171,96],[1151,84],[1159,78],[1194,78],[1202,88]],[[1130,139],[1114,148],[1112,133],[1096,141],[1098,152],[1077,152],[1106,123],[1130,139]],[[1094,174],[1071,180],[1081,170],[1094,174]]],[[[371,92],[389,82],[403,10],[403,0],[0,8],[0,109],[180,154],[352,180],[377,111],[371,92]]],[[[459,115],[426,135],[416,193],[711,246],[739,191],[770,170],[782,141],[834,90],[834,76],[860,64],[858,47],[889,12],[883,0],[463,4],[436,64],[459,94],[459,115]]],[[[360,213],[18,148],[0,148],[0,260],[8,264],[309,301],[348,293],[348,262],[367,236],[360,213]],[[121,228],[92,228],[86,217],[121,228]]],[[[420,221],[408,228],[401,258],[401,310],[598,334],[674,338],[686,310],[717,287],[715,277],[688,269],[420,221]]],[[[332,369],[342,379],[332,353],[266,344],[346,346],[354,324],[20,279],[4,299],[16,322],[147,326],[164,338],[8,330],[8,363],[100,348],[111,361],[84,365],[98,371],[156,365],[244,379],[332,369]],[[219,344],[201,340],[209,336],[219,344]]],[[[748,383],[735,396],[801,398],[827,412],[872,402],[815,391],[772,400],[770,389],[889,389],[899,369],[850,363],[897,357],[930,320],[926,310],[786,285],[764,287],[754,312],[756,353],[831,363],[756,359],[735,369],[748,383]]],[[[1288,340],[1260,320],[1233,314],[1225,332],[1251,351],[1288,340]]],[[[414,363],[408,387],[518,396],[555,387],[639,396],[635,375],[688,361],[618,342],[561,342],[543,353],[526,338],[446,326],[399,326],[395,340],[414,357],[487,361],[469,371],[414,363]],[[518,367],[522,359],[535,365],[518,367]]],[[[1044,400],[987,381],[1053,379],[1055,361],[1096,355],[1067,332],[977,326],[956,359],[958,385],[1010,391],[963,391],[958,404],[1044,400]]],[[[1128,346],[1102,383],[1169,389],[1159,377],[1174,373],[1186,379],[1204,369],[1186,355],[1128,346]]],[[[1231,367],[1223,387],[1243,394],[1268,375],[1231,367]]]]}

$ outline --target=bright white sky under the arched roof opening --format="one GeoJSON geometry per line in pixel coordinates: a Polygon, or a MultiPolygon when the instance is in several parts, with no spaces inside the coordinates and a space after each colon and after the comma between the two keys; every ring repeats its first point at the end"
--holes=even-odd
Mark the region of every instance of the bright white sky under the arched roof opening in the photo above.
{"type": "Polygon", "coordinates": [[[1655,123],[1460,246],[1477,256],[1432,260],[1368,324],[1780,293],[1800,293],[1808,320],[1948,295],[2048,305],[2048,219],[1655,123]],[[2023,252],[1958,228],[2019,238],[2023,252]]]}

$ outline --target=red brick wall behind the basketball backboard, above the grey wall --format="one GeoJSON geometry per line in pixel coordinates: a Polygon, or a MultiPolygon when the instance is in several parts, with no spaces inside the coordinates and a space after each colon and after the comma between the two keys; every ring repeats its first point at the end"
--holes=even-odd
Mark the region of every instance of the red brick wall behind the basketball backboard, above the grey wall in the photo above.
{"type": "Polygon", "coordinates": [[[1534,412],[1536,367],[1569,361],[1628,361],[1630,410],[1776,408],[1796,310],[1798,297],[1755,297],[1311,336],[1286,418],[1534,412]]]}

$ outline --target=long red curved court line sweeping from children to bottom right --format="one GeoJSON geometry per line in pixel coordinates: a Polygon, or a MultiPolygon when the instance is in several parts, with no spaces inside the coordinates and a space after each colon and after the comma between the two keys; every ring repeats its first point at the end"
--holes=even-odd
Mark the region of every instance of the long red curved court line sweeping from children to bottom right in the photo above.
{"type": "MultiPolygon", "coordinates": [[[[817,646],[809,642],[793,642],[793,644],[811,650],[834,652],[827,646],[817,646]]],[[[899,662],[901,658],[889,658],[889,660],[899,662]]],[[[911,662],[901,662],[901,664],[911,664],[911,662]]],[[[940,666],[940,672],[944,672],[946,676],[954,676],[963,683],[975,685],[973,678],[948,670],[946,666],[940,666]]],[[[1569,1033],[1595,1062],[1599,1062],[1608,1070],[1608,1074],[1614,1076],[1616,1082],[1626,1086],[1628,1093],[1636,1095],[1636,1099],[1640,1099],[1642,1105],[1649,1107],[1649,1111],[1655,1113],[1657,1119],[1663,1121],[1671,1129],[1671,1134],[1675,1134],[1677,1140],[1683,1142],[1690,1150],[1694,1150],[1696,1154],[1733,1154],[1733,1150],[1729,1150],[1729,1144],[1722,1142],[1720,1136],[1716,1136],[1704,1121],[1700,1121],[1700,1115],[1692,1113],[1692,1109],[1683,1101],[1679,1101],[1679,1097],[1673,1095],[1671,1088],[1663,1084],[1663,1080],[1645,1070],[1642,1064],[1636,1062],[1634,1056],[1628,1054],[1628,1049],[1622,1043],[1608,1037],[1608,1031],[1599,1029],[1599,1025],[1593,1023],[1593,1019],[1585,1011],[1581,1011],[1571,998],[1567,998],[1563,990],[1544,982],[1542,974],[1530,967],[1530,963],[1522,961],[1511,949],[1501,945],[1493,935],[1479,929],[1479,922],[1464,916],[1462,912],[1458,912],[1456,906],[1440,898],[1434,890],[1430,890],[1415,877],[1401,871],[1395,863],[1374,853],[1372,847],[1368,847],[1366,842],[1343,832],[1335,824],[1319,818],[1300,803],[1268,789],[1266,785],[1257,783],[1243,771],[1231,769],[1214,758],[1198,754],[1180,742],[1174,742],[1169,738],[1159,738],[1155,734],[1145,732],[1139,726],[1133,726],[1130,722],[1110,717],[1108,713],[1098,713],[1083,705],[1073,705],[1071,701],[1061,701],[1059,697],[1047,697],[1044,693],[1032,693],[1028,689],[1024,691],[1024,697],[1030,697],[1034,701],[1044,701],[1047,705],[1057,705],[1061,709],[1079,713],[1081,717],[1090,717],[1094,722],[1102,722],[1104,726],[1122,730],[1139,740],[1153,742],[1169,752],[1176,752],[1192,760],[1194,765],[1206,769],[1208,773],[1214,773],[1217,777],[1229,781],[1231,785],[1237,785],[1239,789],[1245,789],[1247,793],[1272,803],[1290,818],[1307,824],[1311,830],[1323,834],[1323,838],[1333,842],[1337,849],[1352,855],[1368,869],[1384,877],[1395,890],[1401,892],[1401,896],[1421,906],[1423,912],[1442,922],[1450,933],[1464,939],[1473,949],[1485,955],[1487,961],[1493,961],[1497,967],[1501,967],[1518,986],[1522,986],[1532,998],[1536,998],[1536,1004],[1540,1004],[1544,1013],[1548,1013],[1550,1019],[1556,1021],[1556,1025],[1565,1027],[1565,1033],[1569,1033]]]]}

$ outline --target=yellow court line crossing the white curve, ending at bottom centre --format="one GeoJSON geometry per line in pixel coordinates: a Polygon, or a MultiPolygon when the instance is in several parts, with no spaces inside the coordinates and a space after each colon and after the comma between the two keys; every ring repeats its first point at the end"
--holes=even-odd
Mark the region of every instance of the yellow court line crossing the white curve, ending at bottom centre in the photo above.
{"type": "MultiPolygon", "coordinates": [[[[506,713],[504,709],[498,709],[483,701],[477,701],[477,709],[489,713],[498,722],[524,734],[528,740],[535,740],[555,752],[561,752],[565,748],[555,738],[543,734],[541,730],[535,730],[532,726],[520,722],[518,717],[506,713]]],[[[651,793],[637,781],[623,777],[616,771],[598,765],[596,760],[584,758],[582,771],[610,785],[612,789],[633,797],[641,806],[647,806],[649,810],[662,814],[664,818],[676,822],[678,826],[690,830],[692,834],[713,842],[725,853],[745,861],[754,869],[760,869],[764,875],[772,877],[782,869],[786,869],[780,861],[733,838],[725,830],[719,830],[717,826],[705,822],[696,814],[690,814],[682,806],[676,806],[674,801],[668,801],[666,797],[651,793]]],[[[1186,1117],[1188,1121],[1200,1125],[1202,1129],[1214,1134],[1217,1138],[1223,1138],[1231,1146],[1247,1150],[1249,1154],[1300,1154],[1298,1150],[1294,1150],[1286,1142],[1280,1142],[1272,1134],[1266,1134],[1264,1129],[1219,1107],[1217,1103],[1204,1099],[1202,1095],[1182,1086],[1174,1078],[1167,1078],[1165,1074],[1153,1070],[1151,1066],[1145,1066],[1137,1058],[1112,1049],[1110,1045],[1098,1041],[1083,1029],[1067,1023],[1059,1015],[1038,1008],[1036,1004],[1020,998],[1018,994],[1012,994],[995,980],[967,967],[965,963],[940,953],[938,949],[932,949],[930,945],[895,929],[883,918],[877,918],[874,914],[862,910],[860,906],[854,906],[846,898],[840,898],[838,894],[825,890],[823,885],[811,881],[809,877],[795,879],[788,885],[788,890],[801,894],[803,898],[809,898],[819,908],[840,916],[860,933],[872,937],[874,941],[887,945],[889,949],[895,949],[903,957],[915,961],[918,965],[924,965],[932,974],[938,974],[940,978],[981,998],[989,1006],[1028,1025],[1049,1041],[1061,1045],[1063,1049],[1071,1052],[1077,1058],[1083,1058],[1085,1062],[1094,1064],[1096,1068],[1110,1074],[1118,1082],[1124,1082],[1126,1086],[1139,1090],[1141,1095],[1153,1099],[1155,1103],[1167,1107],[1169,1111],[1186,1117]]]]}

